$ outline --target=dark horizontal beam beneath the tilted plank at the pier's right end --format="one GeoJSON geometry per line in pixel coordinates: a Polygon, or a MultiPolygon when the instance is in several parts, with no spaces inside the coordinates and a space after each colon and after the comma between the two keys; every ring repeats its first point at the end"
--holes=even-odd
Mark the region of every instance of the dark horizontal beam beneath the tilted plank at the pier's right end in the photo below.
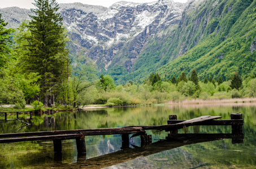
{"type": "MultiPolygon", "coordinates": [[[[184,120],[168,120],[168,124],[177,124],[180,122],[184,122],[184,120]]],[[[209,122],[202,122],[198,125],[200,126],[229,126],[229,125],[238,125],[244,124],[244,120],[242,119],[234,119],[234,120],[213,120],[209,122]]],[[[196,126],[196,125],[193,125],[196,126]]]]}

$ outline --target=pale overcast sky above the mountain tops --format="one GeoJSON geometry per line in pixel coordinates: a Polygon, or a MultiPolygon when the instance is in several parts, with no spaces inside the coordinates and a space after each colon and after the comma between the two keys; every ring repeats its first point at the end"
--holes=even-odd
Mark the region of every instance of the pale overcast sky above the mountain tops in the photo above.
{"type": "MultiPolygon", "coordinates": [[[[73,3],[73,2],[81,2],[88,5],[101,5],[105,7],[110,7],[113,3],[118,2],[120,0],[57,0],[58,3],[73,3]]],[[[127,0],[129,2],[154,2],[157,0],[127,0]]],[[[175,2],[183,2],[185,3],[187,0],[173,0],[175,2]]],[[[18,6],[20,8],[34,8],[32,5],[34,0],[0,0],[0,8],[18,6]]]]}

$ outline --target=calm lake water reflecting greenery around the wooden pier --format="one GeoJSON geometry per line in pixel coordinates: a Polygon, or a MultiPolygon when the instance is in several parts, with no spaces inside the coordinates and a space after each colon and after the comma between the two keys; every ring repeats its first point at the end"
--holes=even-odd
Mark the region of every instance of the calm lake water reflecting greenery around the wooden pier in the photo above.
{"type": "MultiPolygon", "coordinates": [[[[167,124],[168,116],[191,119],[201,115],[242,113],[244,140],[232,144],[232,139],[190,144],[163,141],[168,132],[147,131],[153,144],[141,146],[140,136],[129,140],[122,148],[120,135],[86,136],[86,155],[77,155],[76,141],[62,141],[62,155],[54,154],[53,141],[27,141],[0,144],[0,168],[256,168],[256,105],[155,105],[122,108],[88,109],[33,116],[32,125],[19,121],[0,121],[1,134],[85,128],[110,128],[167,124]]],[[[13,116],[8,118],[15,119],[13,116]]],[[[23,121],[29,115],[20,115],[23,121]]],[[[4,117],[0,117],[4,119],[4,117]]],[[[225,134],[231,126],[191,126],[179,133],[225,134]]],[[[131,135],[130,135],[131,136],[131,135]]]]}

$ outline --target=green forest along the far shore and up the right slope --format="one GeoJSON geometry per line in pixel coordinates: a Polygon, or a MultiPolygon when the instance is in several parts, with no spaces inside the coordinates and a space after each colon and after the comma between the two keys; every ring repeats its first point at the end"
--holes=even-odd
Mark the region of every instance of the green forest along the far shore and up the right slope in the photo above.
{"type": "MultiPolygon", "coordinates": [[[[154,73],[141,73],[144,77],[137,80],[131,77],[126,80],[128,83],[117,83],[119,85],[115,84],[115,75],[100,75],[97,65],[84,55],[84,51],[71,54],[72,44],[56,1],[40,0],[34,5],[31,21],[24,21],[16,29],[7,29],[8,23],[0,14],[0,104],[15,104],[15,108],[24,108],[26,104],[77,108],[89,104],[151,105],[256,95],[255,53],[246,50],[255,37],[255,33],[251,33],[253,30],[248,31],[252,25],[242,26],[237,32],[235,28],[239,25],[234,24],[222,34],[214,33],[219,30],[217,25],[223,28],[220,23],[227,23],[229,19],[236,18],[233,23],[246,25],[245,17],[254,16],[247,13],[254,10],[255,2],[234,2],[233,7],[239,10],[233,11],[237,17],[231,19],[227,14],[223,16],[225,21],[211,20],[213,27],[206,29],[208,36],[203,36],[192,50],[154,73]]],[[[226,3],[219,3],[221,5],[225,11],[226,3]]],[[[160,53],[154,52],[155,47],[159,48],[158,43],[151,41],[150,55],[159,56],[160,53]]],[[[163,45],[163,49],[167,46],[163,45]]],[[[148,63],[150,69],[151,62],[143,58],[140,57],[141,61],[148,63]]],[[[144,72],[152,71],[144,69],[144,72]]]]}

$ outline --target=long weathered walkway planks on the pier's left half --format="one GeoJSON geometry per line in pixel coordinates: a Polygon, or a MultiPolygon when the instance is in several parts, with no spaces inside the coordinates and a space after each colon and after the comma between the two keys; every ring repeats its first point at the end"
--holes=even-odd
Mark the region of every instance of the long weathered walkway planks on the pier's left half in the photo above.
{"type": "Polygon", "coordinates": [[[95,128],[82,130],[59,130],[59,131],[39,131],[39,132],[22,132],[12,134],[0,134],[0,138],[4,137],[25,137],[25,136],[45,136],[59,134],[81,134],[84,135],[112,135],[112,134],[133,134],[145,132],[142,127],[124,127],[124,128],[95,128]]]}

